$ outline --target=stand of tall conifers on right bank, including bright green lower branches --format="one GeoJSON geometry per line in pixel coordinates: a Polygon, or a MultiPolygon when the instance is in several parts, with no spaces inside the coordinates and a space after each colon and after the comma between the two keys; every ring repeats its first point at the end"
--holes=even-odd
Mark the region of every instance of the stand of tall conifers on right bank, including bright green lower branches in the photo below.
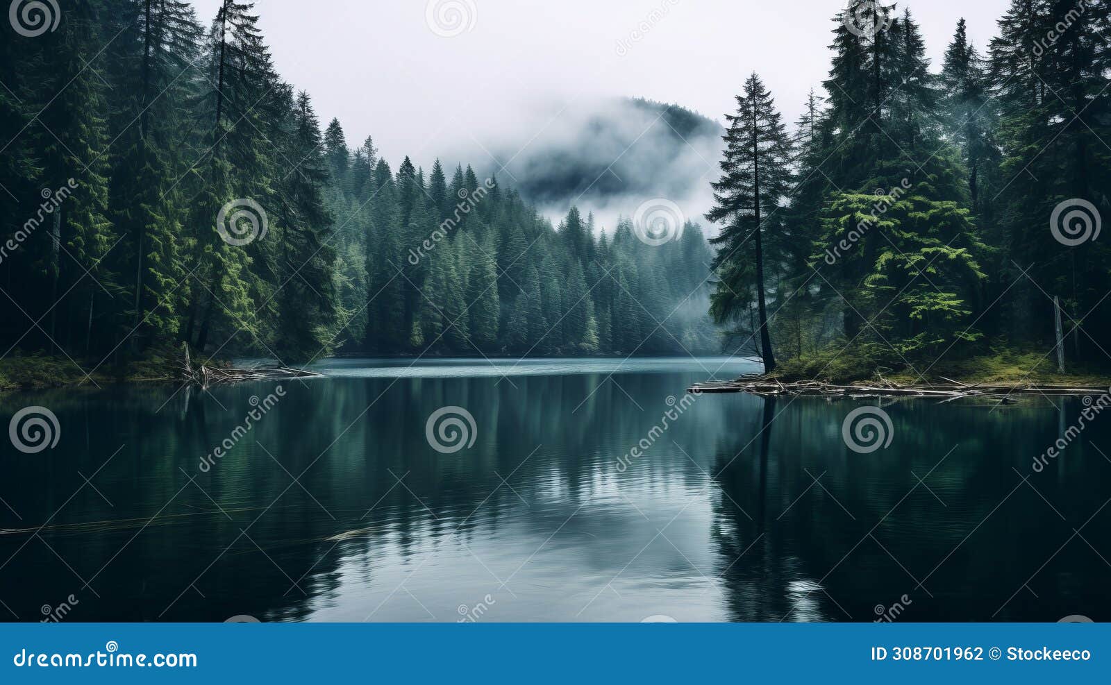
{"type": "Polygon", "coordinates": [[[913,14],[852,0],[790,132],[753,74],[729,118],[712,312],[741,345],[925,373],[1000,347],[1111,363],[1107,2],[1013,0],[940,73],[913,14]]]}

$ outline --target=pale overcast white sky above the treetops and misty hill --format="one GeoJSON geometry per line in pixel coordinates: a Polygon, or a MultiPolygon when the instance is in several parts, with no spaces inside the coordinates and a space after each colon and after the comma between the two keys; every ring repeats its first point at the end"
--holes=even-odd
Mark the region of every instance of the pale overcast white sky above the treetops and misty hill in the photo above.
{"type": "MultiPolygon", "coordinates": [[[[484,160],[473,155],[484,158],[481,149],[498,147],[499,137],[528,141],[563,104],[598,97],[678,102],[720,121],[753,70],[793,122],[808,90],[827,75],[831,18],[843,4],[260,0],[256,11],[278,71],[309,91],[322,122],[339,117],[349,142],[372,134],[393,168],[404,154],[427,168],[436,155],[456,161],[453,153],[480,164],[484,160]],[[468,30],[438,36],[427,21],[429,4],[461,8],[468,30]],[[662,17],[653,21],[653,13],[662,17]],[[651,26],[634,42],[630,32],[641,22],[651,26]]],[[[937,68],[958,18],[968,20],[982,47],[1008,4],[915,0],[910,7],[937,68]]],[[[194,6],[207,24],[219,0],[194,6]]]]}

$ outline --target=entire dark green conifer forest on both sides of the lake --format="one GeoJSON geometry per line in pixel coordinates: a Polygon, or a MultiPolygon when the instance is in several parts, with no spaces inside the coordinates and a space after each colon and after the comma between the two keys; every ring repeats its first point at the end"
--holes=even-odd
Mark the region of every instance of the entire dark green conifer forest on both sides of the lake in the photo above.
{"type": "Polygon", "coordinates": [[[1049,357],[1055,300],[1070,365],[1105,365],[1108,4],[1014,0],[989,44],[958,22],[939,68],[910,9],[853,0],[831,26],[793,125],[744,80],[710,244],[685,222],[657,245],[574,206],[553,225],[496,170],[347,140],[276,72],[252,3],[208,21],[73,2],[0,47],[0,343],[98,366],[182,342],[282,361],[724,350],[859,375],[1049,357]]]}

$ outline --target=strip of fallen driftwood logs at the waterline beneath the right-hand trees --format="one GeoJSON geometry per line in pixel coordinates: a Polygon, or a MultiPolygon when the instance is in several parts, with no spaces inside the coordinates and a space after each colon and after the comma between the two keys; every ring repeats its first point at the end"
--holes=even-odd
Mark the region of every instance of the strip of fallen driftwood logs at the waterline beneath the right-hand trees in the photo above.
{"type": "Polygon", "coordinates": [[[890,381],[870,384],[841,385],[820,381],[782,382],[769,376],[748,376],[735,381],[717,383],[695,383],[687,389],[690,393],[731,393],[743,392],[753,395],[811,395],[824,397],[935,397],[939,400],[957,400],[960,397],[999,397],[1009,395],[1104,395],[1111,393],[1108,387],[1075,387],[1070,385],[984,385],[977,383],[968,385],[951,379],[944,379],[951,385],[899,385],[890,381]]]}

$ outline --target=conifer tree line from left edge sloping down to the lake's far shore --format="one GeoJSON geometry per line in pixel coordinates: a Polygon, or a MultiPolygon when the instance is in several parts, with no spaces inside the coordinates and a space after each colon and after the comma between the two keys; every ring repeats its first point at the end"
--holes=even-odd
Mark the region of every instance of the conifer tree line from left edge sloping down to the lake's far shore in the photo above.
{"type": "MultiPolygon", "coordinates": [[[[7,28],[7,27],[6,27],[7,28]]],[[[0,342],[376,353],[707,351],[710,248],[560,225],[470,168],[321,129],[251,3],[77,0],[0,42],[0,342]],[[34,34],[31,34],[34,33],[34,34]],[[449,178],[450,174],[450,178],[449,178]],[[691,303],[699,306],[692,308],[691,303]]],[[[675,226],[678,228],[678,226],[675,226]]]]}

